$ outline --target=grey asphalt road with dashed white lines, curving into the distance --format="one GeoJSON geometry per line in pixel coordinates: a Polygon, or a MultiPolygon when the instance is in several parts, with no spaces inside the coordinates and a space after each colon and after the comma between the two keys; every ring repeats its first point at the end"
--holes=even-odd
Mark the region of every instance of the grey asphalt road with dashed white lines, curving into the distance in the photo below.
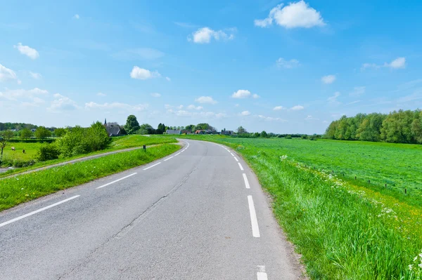
{"type": "Polygon", "coordinates": [[[0,213],[0,279],[300,278],[245,162],[215,143],[184,142],[146,166],[0,213]]]}

